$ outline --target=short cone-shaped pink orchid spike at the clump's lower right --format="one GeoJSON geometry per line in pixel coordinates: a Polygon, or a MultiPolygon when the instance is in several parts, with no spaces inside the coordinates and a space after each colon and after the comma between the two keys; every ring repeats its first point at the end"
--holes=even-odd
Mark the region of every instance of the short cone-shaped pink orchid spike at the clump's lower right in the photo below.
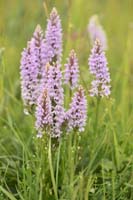
{"type": "Polygon", "coordinates": [[[84,131],[87,119],[87,100],[82,87],[75,92],[66,116],[68,131],[73,129],[78,129],[79,132],[84,131]]]}

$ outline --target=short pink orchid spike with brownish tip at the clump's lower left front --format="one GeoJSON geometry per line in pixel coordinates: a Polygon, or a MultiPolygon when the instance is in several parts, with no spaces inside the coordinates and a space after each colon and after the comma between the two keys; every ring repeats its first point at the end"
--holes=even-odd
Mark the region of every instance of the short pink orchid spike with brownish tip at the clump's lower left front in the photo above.
{"type": "Polygon", "coordinates": [[[52,117],[52,105],[47,89],[42,90],[43,92],[38,98],[36,106],[36,124],[35,127],[38,131],[38,136],[42,135],[44,131],[50,129],[53,124],[52,117]]]}

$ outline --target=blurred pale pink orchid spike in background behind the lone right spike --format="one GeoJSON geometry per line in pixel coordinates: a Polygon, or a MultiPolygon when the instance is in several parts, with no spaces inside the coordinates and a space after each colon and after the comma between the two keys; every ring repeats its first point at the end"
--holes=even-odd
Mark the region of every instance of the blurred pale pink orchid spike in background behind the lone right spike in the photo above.
{"type": "Polygon", "coordinates": [[[96,39],[98,39],[101,42],[103,50],[106,50],[108,48],[106,33],[101,26],[97,15],[93,15],[90,18],[88,24],[88,32],[92,45],[95,43],[96,39]]]}

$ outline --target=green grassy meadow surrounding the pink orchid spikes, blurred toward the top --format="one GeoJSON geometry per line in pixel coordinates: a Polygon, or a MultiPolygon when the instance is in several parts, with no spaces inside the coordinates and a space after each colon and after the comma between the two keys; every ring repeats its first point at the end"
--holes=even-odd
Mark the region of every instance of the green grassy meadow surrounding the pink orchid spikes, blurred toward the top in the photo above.
{"type": "MultiPolygon", "coordinates": [[[[132,200],[133,199],[133,28],[130,0],[0,1],[0,200],[132,200]],[[23,113],[20,53],[36,24],[46,26],[53,6],[64,32],[64,57],[74,48],[81,83],[89,88],[86,32],[89,17],[101,16],[107,32],[112,79],[110,99],[99,105],[88,98],[85,132],[73,132],[58,144],[36,138],[34,120],[23,113]]],[[[66,104],[68,99],[66,98],[66,104]]]]}

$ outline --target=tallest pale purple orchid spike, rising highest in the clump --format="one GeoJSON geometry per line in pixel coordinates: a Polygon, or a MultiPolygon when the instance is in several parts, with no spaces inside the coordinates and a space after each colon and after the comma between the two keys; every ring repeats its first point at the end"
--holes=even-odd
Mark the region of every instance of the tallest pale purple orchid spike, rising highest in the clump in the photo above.
{"type": "Polygon", "coordinates": [[[60,64],[62,57],[62,28],[61,20],[56,8],[53,8],[48,19],[45,32],[45,45],[42,48],[42,60],[44,65],[49,62],[60,64]]]}

